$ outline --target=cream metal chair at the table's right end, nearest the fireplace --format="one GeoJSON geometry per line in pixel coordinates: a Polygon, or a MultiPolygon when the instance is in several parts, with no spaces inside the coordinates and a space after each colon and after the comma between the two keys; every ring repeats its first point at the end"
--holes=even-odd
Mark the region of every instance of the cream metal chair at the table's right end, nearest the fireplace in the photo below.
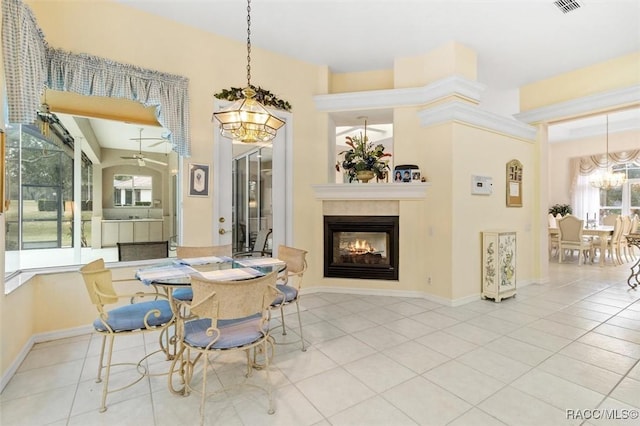
{"type": "MultiPolygon", "coordinates": [[[[280,310],[280,326],[282,327],[282,335],[287,335],[287,326],[285,324],[284,309],[286,305],[295,303],[296,312],[298,314],[298,328],[300,330],[300,341],[302,351],[307,350],[302,334],[302,319],[300,317],[300,288],[302,286],[302,277],[307,270],[307,251],[295,247],[280,245],[278,247],[278,259],[285,262],[286,269],[278,275],[277,289],[278,296],[271,304],[274,309],[280,310]]],[[[291,342],[294,343],[294,342],[291,342]]]]}

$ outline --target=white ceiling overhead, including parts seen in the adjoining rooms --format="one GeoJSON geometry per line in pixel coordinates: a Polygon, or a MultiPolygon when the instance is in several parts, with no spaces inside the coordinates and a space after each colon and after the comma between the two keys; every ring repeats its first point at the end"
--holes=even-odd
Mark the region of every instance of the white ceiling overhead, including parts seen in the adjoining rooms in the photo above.
{"type": "MultiPolygon", "coordinates": [[[[246,1],[117,1],[241,42],[247,38],[246,1]]],[[[333,72],[355,72],[391,69],[395,58],[457,41],[477,53],[479,82],[509,92],[640,50],[640,0],[578,1],[582,7],[563,14],[553,0],[253,0],[251,43],[333,72]]],[[[264,66],[252,61],[254,74],[264,66]]],[[[635,120],[637,127],[637,111],[610,121],[635,120]]],[[[576,137],[582,131],[577,125],[593,129],[594,120],[554,126],[550,139],[576,137]]],[[[90,121],[102,146],[138,150],[132,139],[139,125],[90,121]]],[[[145,127],[143,137],[163,132],[145,127]]],[[[168,144],[153,143],[143,141],[142,150],[166,152],[168,144]]]]}

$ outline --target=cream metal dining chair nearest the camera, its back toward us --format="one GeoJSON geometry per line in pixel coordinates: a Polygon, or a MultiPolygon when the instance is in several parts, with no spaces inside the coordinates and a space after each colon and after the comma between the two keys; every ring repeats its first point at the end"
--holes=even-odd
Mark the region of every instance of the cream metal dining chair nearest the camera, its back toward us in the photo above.
{"type": "MultiPolygon", "coordinates": [[[[227,381],[222,388],[207,394],[209,355],[224,356],[243,351],[246,353],[245,377],[251,376],[254,367],[265,371],[265,386],[256,383],[236,383],[253,386],[266,392],[269,414],[275,412],[270,377],[270,358],[273,356],[273,342],[269,334],[271,301],[277,296],[277,271],[267,275],[241,281],[214,281],[201,274],[191,275],[193,300],[188,306],[195,319],[180,322],[182,330],[180,349],[171,366],[171,371],[185,371],[186,394],[194,391],[191,387],[195,363],[202,360],[202,389],[200,401],[200,424],[204,425],[205,404],[208,397],[226,393],[231,385],[227,381]],[[253,354],[252,354],[253,351],[253,354]],[[261,355],[261,363],[256,365],[256,351],[261,355]],[[199,354],[191,358],[191,352],[199,354]],[[253,356],[252,356],[253,355],[253,356]],[[184,365],[176,366],[184,360],[184,365]]],[[[215,358],[217,360],[218,357],[215,358]]],[[[230,357],[231,361],[234,359],[230,357]]],[[[229,365],[229,363],[225,363],[229,365]]],[[[213,368],[213,365],[211,365],[213,368]]],[[[222,411],[221,411],[222,413],[222,411]]],[[[217,422],[211,422],[217,423],[217,422]]]]}

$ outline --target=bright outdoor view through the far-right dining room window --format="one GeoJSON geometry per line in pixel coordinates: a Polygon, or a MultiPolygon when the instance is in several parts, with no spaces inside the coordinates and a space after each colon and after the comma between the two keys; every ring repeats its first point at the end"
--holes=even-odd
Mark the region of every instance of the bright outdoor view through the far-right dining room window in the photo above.
{"type": "Polygon", "coordinates": [[[627,181],[621,187],[600,190],[600,217],[610,214],[640,216],[640,164],[627,163],[612,169],[624,173],[627,181]]]}

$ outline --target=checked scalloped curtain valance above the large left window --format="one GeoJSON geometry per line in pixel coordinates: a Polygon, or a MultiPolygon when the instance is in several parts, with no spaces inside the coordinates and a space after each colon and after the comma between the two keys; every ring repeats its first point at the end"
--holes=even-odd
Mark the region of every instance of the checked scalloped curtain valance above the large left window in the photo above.
{"type": "Polygon", "coordinates": [[[173,150],[191,155],[189,80],[48,46],[31,9],[20,0],[2,0],[2,51],[9,122],[33,124],[45,87],[85,96],[129,99],[156,107],[173,150]]]}

